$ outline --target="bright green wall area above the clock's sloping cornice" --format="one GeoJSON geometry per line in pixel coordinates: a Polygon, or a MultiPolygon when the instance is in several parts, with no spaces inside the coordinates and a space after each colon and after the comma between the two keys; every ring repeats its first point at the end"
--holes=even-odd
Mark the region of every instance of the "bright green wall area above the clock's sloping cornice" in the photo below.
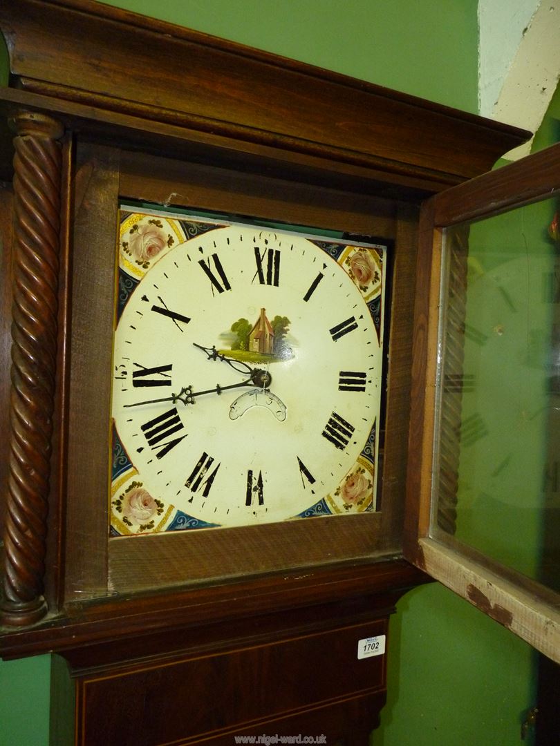
{"type": "Polygon", "coordinates": [[[477,0],[111,0],[395,90],[478,110],[477,0]]]}

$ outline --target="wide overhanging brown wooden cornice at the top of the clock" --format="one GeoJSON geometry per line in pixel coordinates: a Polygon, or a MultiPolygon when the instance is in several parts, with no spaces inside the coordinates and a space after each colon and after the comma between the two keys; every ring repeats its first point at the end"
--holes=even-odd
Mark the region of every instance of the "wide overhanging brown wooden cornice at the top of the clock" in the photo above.
{"type": "Polygon", "coordinates": [[[87,0],[5,0],[10,68],[35,93],[388,171],[472,177],[527,133],[87,0]],[[84,61],[85,60],[85,61],[84,61]],[[92,65],[89,60],[96,60],[92,65]],[[152,60],[158,60],[154,65],[152,60]],[[47,84],[47,87],[45,87],[47,84]],[[270,106],[274,101],[274,106],[270,106]],[[343,111],[343,116],[337,112],[343,111]],[[461,146],[472,142],[472,148],[461,146]]]}

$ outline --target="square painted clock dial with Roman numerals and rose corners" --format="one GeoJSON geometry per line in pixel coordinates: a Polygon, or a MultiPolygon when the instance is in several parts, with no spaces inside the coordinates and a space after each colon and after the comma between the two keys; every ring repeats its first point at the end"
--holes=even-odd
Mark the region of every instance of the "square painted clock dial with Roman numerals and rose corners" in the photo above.
{"type": "Polygon", "coordinates": [[[122,213],[112,533],[373,510],[385,248],[122,213]]]}

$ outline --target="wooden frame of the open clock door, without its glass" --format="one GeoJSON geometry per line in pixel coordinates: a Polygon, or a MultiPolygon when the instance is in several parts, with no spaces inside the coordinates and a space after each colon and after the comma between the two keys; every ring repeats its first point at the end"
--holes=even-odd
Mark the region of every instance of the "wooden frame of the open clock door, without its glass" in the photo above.
{"type": "MultiPolygon", "coordinates": [[[[438,422],[437,361],[445,229],[505,213],[558,194],[559,189],[560,144],[440,192],[421,208],[404,534],[404,556],[409,562],[556,661],[560,660],[559,594],[452,536],[459,436],[449,421],[438,422]],[[447,486],[436,489],[439,439],[454,463],[454,476],[446,480],[447,486]],[[441,515],[442,510],[447,515],[441,515]],[[439,530],[438,521],[451,530],[439,530]]],[[[466,266],[458,273],[460,284],[466,266]]]]}

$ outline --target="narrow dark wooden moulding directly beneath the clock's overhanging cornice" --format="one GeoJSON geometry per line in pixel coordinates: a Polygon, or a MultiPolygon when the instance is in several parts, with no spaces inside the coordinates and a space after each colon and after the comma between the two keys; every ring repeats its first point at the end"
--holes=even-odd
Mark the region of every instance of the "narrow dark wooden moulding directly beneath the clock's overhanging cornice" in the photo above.
{"type": "MultiPolygon", "coordinates": [[[[427,195],[463,181],[456,175],[423,169],[422,172],[395,173],[385,163],[364,162],[360,154],[323,149],[320,153],[302,153],[261,142],[236,139],[236,133],[202,132],[186,126],[146,119],[140,113],[114,112],[75,101],[57,98],[56,87],[42,85],[49,95],[1,88],[0,108],[22,105],[29,110],[52,113],[71,131],[83,137],[95,137],[105,145],[122,142],[129,149],[166,155],[199,163],[219,163],[237,171],[276,175],[295,183],[323,185],[354,193],[383,195],[388,199],[419,201],[427,195]],[[53,90],[51,90],[53,89],[53,90]]],[[[149,112],[146,112],[149,113],[149,112]]],[[[0,149],[0,172],[12,174],[10,142],[0,149]]]]}

